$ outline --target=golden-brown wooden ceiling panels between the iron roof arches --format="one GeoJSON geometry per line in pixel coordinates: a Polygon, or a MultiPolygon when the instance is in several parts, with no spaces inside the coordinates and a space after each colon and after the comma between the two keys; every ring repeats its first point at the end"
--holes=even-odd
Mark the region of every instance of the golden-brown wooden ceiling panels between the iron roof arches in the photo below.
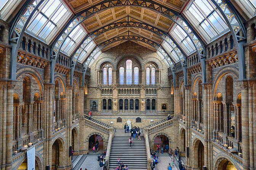
{"type": "MultiPolygon", "coordinates": [[[[75,13],[79,13],[80,11],[100,2],[102,2],[102,0],[68,0],[69,5],[75,13]]],[[[125,0],[122,0],[121,2],[125,2],[125,0]]],[[[187,0],[154,0],[154,2],[162,4],[168,8],[174,9],[177,12],[181,12],[182,8],[187,3],[187,0]]],[[[106,25],[109,25],[111,23],[127,21],[143,22],[165,32],[168,32],[173,24],[173,22],[170,19],[161,15],[160,13],[157,13],[156,11],[141,8],[138,6],[119,6],[115,8],[106,9],[102,12],[94,14],[90,18],[86,19],[85,22],[82,23],[82,25],[83,28],[85,28],[85,30],[88,31],[88,33],[91,33],[92,31],[95,31],[102,27],[106,27],[106,25]]],[[[122,36],[128,34],[142,36],[158,44],[161,44],[163,41],[162,38],[160,38],[152,31],[148,31],[142,28],[122,27],[109,30],[99,35],[97,38],[94,39],[94,42],[96,42],[96,44],[100,44],[101,42],[107,41],[108,39],[113,38],[115,36],[122,36]]],[[[118,44],[125,41],[127,40],[114,42],[104,47],[102,51],[117,46],[118,44]]],[[[145,42],[135,40],[133,41],[144,47],[156,51],[156,49],[154,49],[152,46],[145,42]]]]}

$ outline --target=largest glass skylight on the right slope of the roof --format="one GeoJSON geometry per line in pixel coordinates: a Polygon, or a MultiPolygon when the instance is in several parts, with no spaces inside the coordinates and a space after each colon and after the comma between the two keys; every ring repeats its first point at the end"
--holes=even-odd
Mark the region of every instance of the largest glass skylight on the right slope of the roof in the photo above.
{"type": "MultiPolygon", "coordinates": [[[[187,11],[194,16],[196,25],[201,26],[210,39],[228,28],[208,0],[194,0],[187,11]]],[[[190,17],[188,19],[194,23],[193,19],[190,17]]]]}

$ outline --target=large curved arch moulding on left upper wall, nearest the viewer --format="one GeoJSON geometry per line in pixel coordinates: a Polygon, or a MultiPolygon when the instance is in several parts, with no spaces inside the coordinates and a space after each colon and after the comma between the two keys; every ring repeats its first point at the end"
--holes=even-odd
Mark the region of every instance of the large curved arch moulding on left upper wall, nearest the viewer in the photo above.
{"type": "Polygon", "coordinates": [[[40,76],[40,74],[33,68],[21,68],[18,69],[16,72],[16,79],[18,79],[18,77],[22,76],[23,74],[29,74],[30,76],[34,77],[34,79],[37,81],[39,89],[40,89],[40,96],[42,96],[43,99],[43,80],[42,77],[40,76]]]}

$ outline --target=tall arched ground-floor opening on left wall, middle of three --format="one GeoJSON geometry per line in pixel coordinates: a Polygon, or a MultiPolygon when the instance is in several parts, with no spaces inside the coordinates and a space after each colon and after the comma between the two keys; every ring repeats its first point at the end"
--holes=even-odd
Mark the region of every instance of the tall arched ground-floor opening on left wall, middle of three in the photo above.
{"type": "Polygon", "coordinates": [[[61,137],[54,140],[52,148],[52,164],[53,166],[64,167],[65,165],[65,143],[61,137]],[[54,160],[53,160],[54,159],[54,160]]]}

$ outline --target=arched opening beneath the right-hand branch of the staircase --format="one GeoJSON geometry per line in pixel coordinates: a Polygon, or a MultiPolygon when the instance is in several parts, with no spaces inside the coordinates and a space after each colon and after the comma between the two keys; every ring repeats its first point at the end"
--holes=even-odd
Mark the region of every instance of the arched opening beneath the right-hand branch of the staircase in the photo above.
{"type": "MultiPolygon", "coordinates": [[[[153,150],[156,151],[157,150],[157,145],[160,145],[164,147],[168,144],[169,146],[169,150],[170,150],[170,137],[169,135],[165,134],[165,133],[160,133],[160,134],[156,134],[153,139],[152,139],[152,143],[153,143],[153,150]]],[[[159,151],[159,153],[161,152],[161,149],[159,151]]],[[[164,151],[166,153],[166,150],[164,151]]]]}

